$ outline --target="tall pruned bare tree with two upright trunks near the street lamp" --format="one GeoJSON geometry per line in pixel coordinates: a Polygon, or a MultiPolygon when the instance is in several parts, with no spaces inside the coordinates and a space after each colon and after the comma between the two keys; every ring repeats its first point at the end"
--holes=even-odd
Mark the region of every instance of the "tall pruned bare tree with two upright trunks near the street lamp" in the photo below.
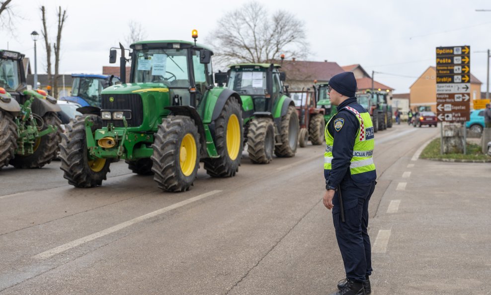
{"type": "Polygon", "coordinates": [[[51,89],[53,90],[52,94],[57,95],[58,94],[58,78],[60,77],[59,75],[59,66],[60,66],[60,44],[61,44],[61,35],[62,35],[62,30],[63,30],[63,25],[65,24],[65,20],[67,20],[67,10],[61,10],[61,6],[58,7],[58,30],[56,34],[56,43],[53,44],[53,49],[55,51],[55,74],[53,75],[51,73],[51,43],[49,41],[49,36],[48,36],[48,30],[46,29],[46,8],[44,6],[41,6],[41,12],[42,12],[42,20],[43,20],[43,38],[44,38],[44,43],[45,43],[45,48],[46,48],[46,72],[48,73],[48,84],[51,86],[51,89]]]}

